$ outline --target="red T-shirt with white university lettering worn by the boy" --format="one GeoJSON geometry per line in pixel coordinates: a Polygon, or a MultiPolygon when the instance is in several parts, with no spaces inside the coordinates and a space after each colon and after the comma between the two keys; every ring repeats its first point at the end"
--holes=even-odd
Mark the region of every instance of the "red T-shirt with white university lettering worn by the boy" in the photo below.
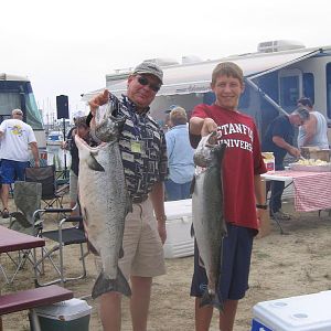
{"type": "Polygon", "coordinates": [[[258,228],[254,175],[266,172],[252,117],[217,105],[197,105],[192,117],[212,118],[226,143],[223,160],[224,215],[228,223],[258,228]]]}

